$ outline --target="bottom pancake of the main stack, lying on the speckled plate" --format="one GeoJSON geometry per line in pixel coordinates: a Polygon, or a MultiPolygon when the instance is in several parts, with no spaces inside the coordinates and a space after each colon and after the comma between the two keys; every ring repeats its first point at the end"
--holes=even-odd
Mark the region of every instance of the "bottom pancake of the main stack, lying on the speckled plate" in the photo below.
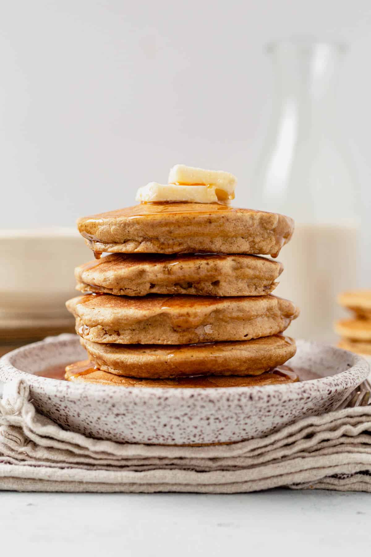
{"type": "Polygon", "coordinates": [[[261,375],[239,377],[186,377],[174,379],[138,379],[123,377],[112,373],[103,372],[101,369],[92,367],[91,361],[77,361],[75,364],[67,365],[65,378],[68,381],[78,383],[92,383],[99,385],[113,385],[116,387],[160,387],[160,388],[183,388],[204,389],[222,387],[261,387],[263,385],[278,385],[295,383],[299,381],[288,366],[283,365],[272,372],[261,375]]]}

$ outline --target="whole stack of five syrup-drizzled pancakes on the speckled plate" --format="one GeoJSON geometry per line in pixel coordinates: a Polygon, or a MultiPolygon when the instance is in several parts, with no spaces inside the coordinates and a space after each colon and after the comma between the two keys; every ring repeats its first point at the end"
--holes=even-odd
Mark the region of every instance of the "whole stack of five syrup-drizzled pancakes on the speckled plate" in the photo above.
{"type": "Polygon", "coordinates": [[[219,203],[148,203],[78,220],[98,259],[67,302],[88,360],[66,379],[129,387],[297,380],[280,335],[298,309],[270,293],[294,223],[219,203]],[[110,255],[99,258],[101,253],[110,255]]]}

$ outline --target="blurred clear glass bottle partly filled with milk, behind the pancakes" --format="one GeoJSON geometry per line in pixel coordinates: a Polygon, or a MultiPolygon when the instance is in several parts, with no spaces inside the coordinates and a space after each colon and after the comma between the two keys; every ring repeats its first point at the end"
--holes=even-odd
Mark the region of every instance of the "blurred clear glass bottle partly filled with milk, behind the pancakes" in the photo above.
{"type": "Polygon", "coordinates": [[[275,106],[251,207],[295,219],[274,291],[300,307],[289,334],[332,342],[333,322],[342,315],[336,296],[357,285],[357,183],[335,106],[345,48],[299,40],[276,42],[268,52],[275,106]]]}

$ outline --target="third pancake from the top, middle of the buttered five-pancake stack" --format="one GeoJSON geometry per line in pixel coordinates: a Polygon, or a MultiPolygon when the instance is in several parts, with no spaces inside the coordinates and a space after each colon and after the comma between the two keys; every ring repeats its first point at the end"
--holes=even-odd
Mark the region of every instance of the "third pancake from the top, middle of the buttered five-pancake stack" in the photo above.
{"type": "Polygon", "coordinates": [[[284,331],[299,314],[276,296],[142,297],[88,294],[68,300],[83,339],[118,344],[250,340],[284,331]]]}

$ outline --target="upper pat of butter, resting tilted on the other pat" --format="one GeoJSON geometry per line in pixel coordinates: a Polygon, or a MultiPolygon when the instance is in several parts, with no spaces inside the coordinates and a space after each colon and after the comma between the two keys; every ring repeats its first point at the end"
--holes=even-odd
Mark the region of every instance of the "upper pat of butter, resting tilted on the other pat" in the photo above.
{"type": "Polygon", "coordinates": [[[210,185],[215,187],[216,196],[220,201],[234,199],[237,178],[224,170],[205,170],[203,168],[186,167],[176,164],[170,169],[169,184],[179,185],[210,185]]]}

